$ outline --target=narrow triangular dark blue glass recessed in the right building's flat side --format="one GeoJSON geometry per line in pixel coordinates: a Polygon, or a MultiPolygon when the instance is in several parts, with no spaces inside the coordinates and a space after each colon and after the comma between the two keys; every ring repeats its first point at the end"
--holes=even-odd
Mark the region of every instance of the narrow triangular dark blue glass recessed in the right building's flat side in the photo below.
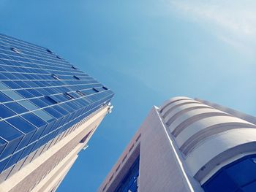
{"type": "Polygon", "coordinates": [[[127,175],[116,188],[115,192],[137,192],[140,169],[140,157],[138,157],[127,172],[127,175]]]}

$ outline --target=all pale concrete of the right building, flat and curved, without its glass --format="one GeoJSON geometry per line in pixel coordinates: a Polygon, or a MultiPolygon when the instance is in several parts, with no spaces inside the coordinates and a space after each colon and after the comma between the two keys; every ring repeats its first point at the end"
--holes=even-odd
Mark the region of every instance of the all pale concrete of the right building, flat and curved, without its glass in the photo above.
{"type": "MultiPolygon", "coordinates": [[[[251,115],[184,96],[153,107],[135,135],[140,134],[138,190],[203,191],[201,185],[223,166],[256,153],[255,122],[251,115]]],[[[115,169],[125,155],[132,156],[128,150],[135,137],[99,192],[114,191],[124,177],[129,161],[121,164],[122,174],[115,169]]]]}

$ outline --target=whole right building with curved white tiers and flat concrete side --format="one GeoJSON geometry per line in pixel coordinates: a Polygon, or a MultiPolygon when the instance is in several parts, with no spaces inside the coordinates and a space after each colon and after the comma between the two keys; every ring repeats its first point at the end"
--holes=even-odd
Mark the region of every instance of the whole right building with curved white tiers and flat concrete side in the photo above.
{"type": "Polygon", "coordinates": [[[153,107],[98,192],[256,191],[256,118],[200,99],[153,107]]]}

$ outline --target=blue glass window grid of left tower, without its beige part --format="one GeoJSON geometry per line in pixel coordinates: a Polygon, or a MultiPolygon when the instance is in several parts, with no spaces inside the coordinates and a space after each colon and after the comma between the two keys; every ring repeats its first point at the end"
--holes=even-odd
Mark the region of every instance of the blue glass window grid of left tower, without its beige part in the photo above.
{"type": "Polygon", "coordinates": [[[51,50],[0,34],[0,173],[112,97],[51,50]]]}

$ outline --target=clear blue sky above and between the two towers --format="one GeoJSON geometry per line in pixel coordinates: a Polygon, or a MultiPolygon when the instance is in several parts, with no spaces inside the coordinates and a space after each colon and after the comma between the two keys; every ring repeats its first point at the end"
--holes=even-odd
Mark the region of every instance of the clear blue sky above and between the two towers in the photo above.
{"type": "Polygon", "coordinates": [[[170,97],[256,115],[255,9],[249,0],[0,0],[0,33],[50,48],[116,93],[58,191],[96,191],[170,97]]]}

